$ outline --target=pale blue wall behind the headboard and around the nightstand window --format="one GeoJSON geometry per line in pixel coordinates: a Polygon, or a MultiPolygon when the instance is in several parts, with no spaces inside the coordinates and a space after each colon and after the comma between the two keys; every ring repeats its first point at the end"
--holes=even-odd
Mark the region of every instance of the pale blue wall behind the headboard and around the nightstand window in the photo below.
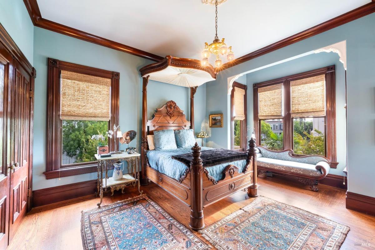
{"type": "MultiPolygon", "coordinates": [[[[46,180],[46,89],[47,89],[47,58],[78,63],[120,72],[120,126],[122,131],[136,130],[137,138],[130,146],[140,145],[141,134],[141,100],[142,79],[139,68],[152,63],[134,55],[105,48],[94,43],[85,42],[49,30],[34,28],[34,67],[37,70],[35,79],[34,108],[34,152],[33,152],[33,189],[59,186],[96,178],[96,173],[63,177],[61,180],[46,180]]],[[[189,114],[190,89],[170,84],[150,81],[147,86],[148,119],[153,110],[174,100],[177,105],[189,114]]],[[[205,87],[198,87],[195,95],[195,126],[196,132],[205,118],[205,87]]],[[[189,115],[188,115],[189,117],[189,115]]],[[[121,145],[121,149],[126,145],[121,145]]]]}

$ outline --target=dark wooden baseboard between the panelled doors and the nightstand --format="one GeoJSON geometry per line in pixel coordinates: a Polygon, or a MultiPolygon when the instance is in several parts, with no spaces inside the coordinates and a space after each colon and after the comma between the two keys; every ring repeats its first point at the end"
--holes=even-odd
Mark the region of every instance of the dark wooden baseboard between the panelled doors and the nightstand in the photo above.
{"type": "Polygon", "coordinates": [[[97,189],[97,181],[82,181],[46,189],[33,191],[33,207],[65,201],[85,195],[93,194],[97,189]]]}

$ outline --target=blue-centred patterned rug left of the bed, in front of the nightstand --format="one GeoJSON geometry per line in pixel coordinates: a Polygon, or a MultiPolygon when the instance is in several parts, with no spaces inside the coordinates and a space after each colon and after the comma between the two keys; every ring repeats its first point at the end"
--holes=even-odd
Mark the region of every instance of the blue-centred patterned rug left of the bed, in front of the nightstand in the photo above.
{"type": "Polygon", "coordinates": [[[85,250],[206,250],[211,247],[147,196],[83,211],[85,250]]]}

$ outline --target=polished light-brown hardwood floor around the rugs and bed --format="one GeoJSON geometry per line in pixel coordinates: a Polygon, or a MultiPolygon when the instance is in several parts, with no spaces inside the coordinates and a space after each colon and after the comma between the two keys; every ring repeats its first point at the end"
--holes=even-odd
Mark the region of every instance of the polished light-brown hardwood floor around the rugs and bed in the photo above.
{"type": "MultiPolygon", "coordinates": [[[[312,192],[308,186],[302,186],[282,177],[260,176],[258,183],[261,185],[258,190],[260,195],[350,226],[350,232],[341,247],[342,250],[375,249],[375,217],[347,210],[345,190],[319,185],[320,191],[316,193],[312,192]],[[356,241],[368,241],[370,246],[356,246],[356,241]]],[[[167,213],[188,227],[188,207],[153,183],[141,188],[167,213]]],[[[137,195],[136,189],[128,190],[123,195],[116,192],[114,196],[105,196],[103,205],[137,195]]],[[[254,199],[240,191],[205,208],[205,225],[211,225],[254,199]]],[[[33,208],[25,217],[7,250],[83,249],[80,232],[81,211],[95,208],[96,203],[98,203],[98,198],[95,196],[85,196],[33,208]]],[[[202,238],[199,233],[195,232],[195,234],[202,238]]]]}

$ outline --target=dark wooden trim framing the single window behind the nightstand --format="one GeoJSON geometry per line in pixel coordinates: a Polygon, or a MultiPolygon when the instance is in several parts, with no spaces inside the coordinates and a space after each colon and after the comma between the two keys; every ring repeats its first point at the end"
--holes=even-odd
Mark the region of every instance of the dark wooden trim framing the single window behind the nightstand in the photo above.
{"type": "MultiPolygon", "coordinates": [[[[47,78],[47,141],[46,141],[46,171],[43,174],[47,179],[67,177],[72,175],[87,174],[97,171],[97,164],[74,163],[61,167],[62,127],[60,120],[60,71],[69,70],[77,73],[100,76],[111,79],[111,117],[109,127],[118,125],[119,114],[119,86],[120,73],[68,63],[53,58],[48,58],[47,78]]],[[[114,148],[114,140],[109,139],[110,148],[114,148]]]]}

